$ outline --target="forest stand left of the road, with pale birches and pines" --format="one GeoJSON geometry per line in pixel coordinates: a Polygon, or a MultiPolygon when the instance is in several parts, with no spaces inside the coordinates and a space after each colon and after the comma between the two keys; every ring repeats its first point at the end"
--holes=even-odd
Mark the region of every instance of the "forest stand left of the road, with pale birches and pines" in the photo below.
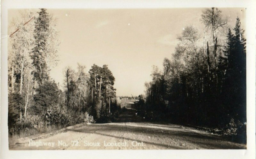
{"type": "Polygon", "coordinates": [[[43,133],[78,123],[106,123],[118,117],[120,99],[115,77],[94,64],[65,67],[63,89],[50,77],[59,63],[56,21],[46,9],[25,12],[9,30],[8,128],[17,137],[43,133]],[[18,28],[18,29],[17,29],[18,28]]]}

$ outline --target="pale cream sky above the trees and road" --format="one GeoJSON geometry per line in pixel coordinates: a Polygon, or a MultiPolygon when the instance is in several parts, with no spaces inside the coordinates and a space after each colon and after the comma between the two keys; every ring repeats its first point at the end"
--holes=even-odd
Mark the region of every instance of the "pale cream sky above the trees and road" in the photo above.
{"type": "MultiPolygon", "coordinates": [[[[171,9],[49,9],[57,18],[60,39],[60,63],[50,76],[62,86],[64,68],[76,69],[107,64],[116,81],[116,95],[140,95],[144,82],[151,81],[152,65],[162,69],[164,57],[172,58],[178,43],[177,35],[193,25],[203,32],[200,22],[205,8],[171,9]]],[[[229,24],[236,17],[244,26],[244,8],[220,8],[229,24]]],[[[19,16],[20,10],[8,11],[8,23],[19,16]]],[[[39,10],[38,10],[39,11],[39,10]]],[[[243,27],[245,28],[245,27],[243,27]]]]}

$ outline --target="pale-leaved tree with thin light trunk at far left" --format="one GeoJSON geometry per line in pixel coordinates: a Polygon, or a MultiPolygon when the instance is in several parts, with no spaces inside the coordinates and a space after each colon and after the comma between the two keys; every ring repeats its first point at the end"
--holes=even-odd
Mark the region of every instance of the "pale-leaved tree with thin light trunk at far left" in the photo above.
{"type": "MultiPolygon", "coordinates": [[[[10,30],[14,28],[18,29],[10,35],[12,49],[8,50],[9,93],[13,94],[17,91],[20,97],[22,97],[22,100],[25,101],[23,103],[24,105],[20,108],[20,120],[22,120],[22,113],[26,117],[27,108],[31,99],[29,86],[33,83],[31,72],[34,70],[34,67],[31,65],[32,60],[29,53],[34,44],[34,17],[34,12],[21,13],[19,19],[12,21],[10,28],[10,30]]],[[[13,101],[9,102],[12,103],[13,101]]]]}

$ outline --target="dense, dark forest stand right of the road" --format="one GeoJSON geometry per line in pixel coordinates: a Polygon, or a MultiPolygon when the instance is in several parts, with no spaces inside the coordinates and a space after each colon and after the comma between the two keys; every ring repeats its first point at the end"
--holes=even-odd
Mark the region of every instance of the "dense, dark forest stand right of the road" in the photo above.
{"type": "Polygon", "coordinates": [[[203,33],[185,27],[163,70],[153,66],[140,98],[142,113],[150,121],[222,128],[246,142],[246,40],[240,19],[230,28],[229,18],[211,8],[200,20],[203,33]]]}

